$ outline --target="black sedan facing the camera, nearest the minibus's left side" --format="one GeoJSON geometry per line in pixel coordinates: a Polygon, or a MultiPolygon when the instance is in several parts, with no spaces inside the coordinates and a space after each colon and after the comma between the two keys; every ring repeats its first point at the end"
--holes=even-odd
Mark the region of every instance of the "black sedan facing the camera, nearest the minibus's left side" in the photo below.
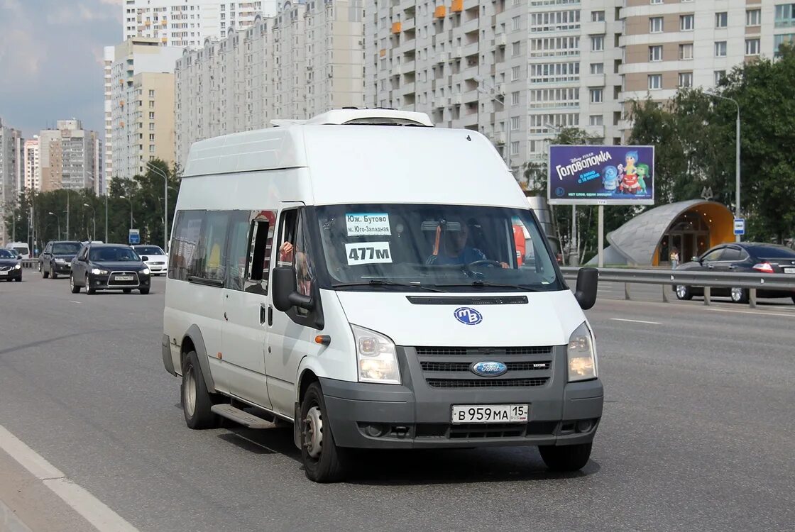
{"type": "Polygon", "coordinates": [[[69,286],[73,294],[81,287],[87,294],[98,290],[149,294],[149,268],[129,245],[87,244],[72,262],[69,286]]]}

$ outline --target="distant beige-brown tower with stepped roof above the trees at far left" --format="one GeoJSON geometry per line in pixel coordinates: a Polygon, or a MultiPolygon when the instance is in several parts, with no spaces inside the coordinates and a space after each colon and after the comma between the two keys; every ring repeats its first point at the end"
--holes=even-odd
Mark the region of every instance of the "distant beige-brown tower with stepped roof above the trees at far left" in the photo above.
{"type": "Polygon", "coordinates": [[[59,120],[56,129],[39,133],[42,191],[103,186],[103,146],[99,133],[83,129],[80,120],[59,120]]]}

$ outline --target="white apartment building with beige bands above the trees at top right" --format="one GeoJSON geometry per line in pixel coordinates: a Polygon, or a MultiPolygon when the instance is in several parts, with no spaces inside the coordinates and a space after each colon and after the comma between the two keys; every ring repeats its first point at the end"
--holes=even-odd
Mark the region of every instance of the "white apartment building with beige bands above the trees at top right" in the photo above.
{"type": "Polygon", "coordinates": [[[622,17],[625,100],[665,100],[680,87],[715,87],[733,67],[773,57],[795,37],[792,2],[627,0],[622,17]]]}

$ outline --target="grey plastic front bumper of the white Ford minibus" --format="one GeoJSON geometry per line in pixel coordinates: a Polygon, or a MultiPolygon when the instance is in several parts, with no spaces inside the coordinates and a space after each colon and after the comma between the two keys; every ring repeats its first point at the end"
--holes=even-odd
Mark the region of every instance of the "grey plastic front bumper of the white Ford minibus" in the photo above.
{"type": "Polygon", "coordinates": [[[568,383],[565,347],[552,376],[533,387],[429,386],[413,349],[398,348],[404,384],[320,379],[337,445],[423,449],[506,445],[573,445],[592,441],[602,417],[599,380],[568,383]],[[529,404],[526,423],[452,424],[453,405],[529,404]],[[578,423],[579,422],[579,423],[578,423]]]}

